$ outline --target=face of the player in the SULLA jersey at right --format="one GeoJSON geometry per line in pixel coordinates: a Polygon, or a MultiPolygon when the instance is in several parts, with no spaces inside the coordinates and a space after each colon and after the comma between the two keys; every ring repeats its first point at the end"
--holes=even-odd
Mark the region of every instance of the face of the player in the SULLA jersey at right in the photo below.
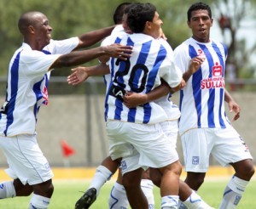
{"type": "Polygon", "coordinates": [[[188,21],[188,25],[193,33],[192,37],[198,42],[210,42],[212,22],[213,20],[210,18],[207,10],[192,11],[191,19],[188,21]]]}

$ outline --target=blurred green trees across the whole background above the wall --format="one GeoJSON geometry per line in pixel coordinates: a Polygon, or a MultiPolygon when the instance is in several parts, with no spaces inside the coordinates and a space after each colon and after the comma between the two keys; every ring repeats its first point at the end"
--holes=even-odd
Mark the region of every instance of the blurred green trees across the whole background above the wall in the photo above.
{"type": "MultiPolygon", "coordinates": [[[[86,31],[96,30],[108,25],[113,25],[113,11],[119,3],[135,2],[111,0],[84,1],[84,0],[1,0],[0,1],[0,76],[5,76],[9,65],[9,59],[20,47],[22,42],[20,32],[17,28],[17,21],[20,14],[28,10],[38,10],[46,14],[49,18],[49,25],[53,27],[52,37],[63,39],[78,36],[86,31]]],[[[194,0],[141,0],[137,2],[154,3],[157,7],[161,19],[164,21],[163,30],[167,41],[172,48],[191,36],[187,26],[187,10],[194,0]]],[[[216,20],[221,14],[228,14],[230,17],[230,29],[235,33],[231,36],[232,42],[227,44],[230,54],[235,52],[243,54],[248,60],[249,51],[243,47],[243,41],[237,40],[237,31],[241,29],[241,21],[253,17],[255,13],[256,0],[205,0],[205,3],[212,5],[212,15],[216,20]],[[233,8],[226,6],[235,5],[233,8]],[[234,25],[236,23],[236,25],[234,25]],[[235,46],[236,50],[233,49],[235,46]]],[[[218,24],[218,21],[215,22],[218,24]]],[[[216,37],[218,39],[218,37],[216,37]]],[[[251,53],[255,50],[251,49],[251,53]]],[[[236,59],[237,64],[242,64],[241,59],[236,59]]],[[[248,63],[248,62],[246,62],[248,63]]],[[[86,65],[94,65],[96,60],[86,65]]],[[[245,67],[245,66],[243,66],[245,67]]],[[[65,76],[67,71],[53,71],[55,76],[65,76]]]]}

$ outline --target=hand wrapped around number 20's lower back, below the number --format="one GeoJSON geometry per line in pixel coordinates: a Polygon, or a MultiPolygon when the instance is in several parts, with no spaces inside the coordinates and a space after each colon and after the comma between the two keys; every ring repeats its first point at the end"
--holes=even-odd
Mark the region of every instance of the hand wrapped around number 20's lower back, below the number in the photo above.
{"type": "Polygon", "coordinates": [[[124,104],[128,108],[135,108],[139,105],[147,103],[147,94],[126,92],[123,96],[124,104]]]}

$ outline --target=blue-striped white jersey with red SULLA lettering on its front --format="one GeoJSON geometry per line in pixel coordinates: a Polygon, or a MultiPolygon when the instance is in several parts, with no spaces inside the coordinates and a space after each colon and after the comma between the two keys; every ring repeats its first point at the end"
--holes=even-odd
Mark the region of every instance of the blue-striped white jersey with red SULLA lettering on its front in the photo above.
{"type": "Polygon", "coordinates": [[[191,37],[174,50],[175,62],[183,72],[195,56],[205,56],[206,60],[181,90],[180,134],[196,127],[224,128],[230,123],[224,110],[227,48],[220,42],[196,42],[191,37]]]}

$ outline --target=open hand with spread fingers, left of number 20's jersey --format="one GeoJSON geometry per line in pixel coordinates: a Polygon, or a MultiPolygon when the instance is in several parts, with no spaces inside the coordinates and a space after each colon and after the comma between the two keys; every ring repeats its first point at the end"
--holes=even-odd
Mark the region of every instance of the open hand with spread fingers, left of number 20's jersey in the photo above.
{"type": "Polygon", "coordinates": [[[71,69],[71,71],[73,71],[73,73],[67,76],[67,83],[73,86],[84,82],[89,77],[86,67],[79,66],[71,69]]]}

